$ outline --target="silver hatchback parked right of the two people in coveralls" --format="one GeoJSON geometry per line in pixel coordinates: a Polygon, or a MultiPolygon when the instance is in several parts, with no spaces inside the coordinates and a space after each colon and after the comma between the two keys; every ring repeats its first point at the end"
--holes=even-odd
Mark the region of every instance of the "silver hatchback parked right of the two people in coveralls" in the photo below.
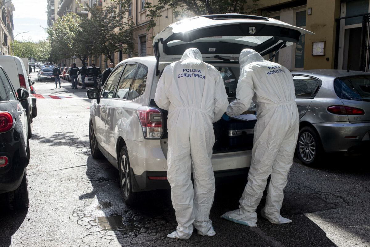
{"type": "Polygon", "coordinates": [[[323,153],[370,148],[370,73],[293,71],[300,131],[296,154],[313,165],[323,153]]]}

